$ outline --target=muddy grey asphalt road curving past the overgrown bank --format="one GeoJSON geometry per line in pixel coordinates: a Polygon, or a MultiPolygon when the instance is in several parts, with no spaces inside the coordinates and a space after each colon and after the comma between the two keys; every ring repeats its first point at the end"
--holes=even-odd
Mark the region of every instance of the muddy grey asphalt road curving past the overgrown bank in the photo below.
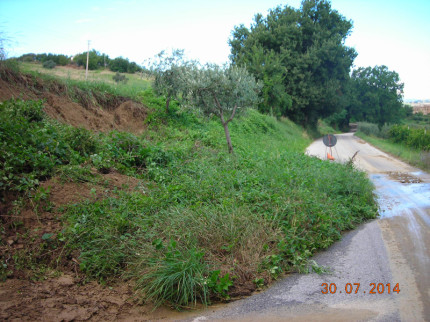
{"type": "MultiPolygon", "coordinates": [[[[331,273],[292,274],[190,321],[430,321],[430,175],[351,133],[337,139],[336,161],[359,151],[354,163],[375,184],[380,218],[313,258],[331,273]]],[[[307,149],[323,159],[327,152],[321,140],[307,149]]]]}

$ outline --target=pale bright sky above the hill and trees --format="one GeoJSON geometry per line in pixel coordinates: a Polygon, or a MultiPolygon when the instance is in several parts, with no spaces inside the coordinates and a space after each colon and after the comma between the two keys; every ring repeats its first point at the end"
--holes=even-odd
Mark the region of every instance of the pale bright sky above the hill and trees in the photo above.
{"type": "MultiPolygon", "coordinates": [[[[73,55],[91,49],[138,64],[163,49],[222,64],[234,26],[300,0],[0,0],[0,32],[8,57],[73,55]]],[[[405,99],[430,99],[430,1],[332,0],[354,23],[346,44],[356,67],[386,65],[405,83],[405,99]]]]}

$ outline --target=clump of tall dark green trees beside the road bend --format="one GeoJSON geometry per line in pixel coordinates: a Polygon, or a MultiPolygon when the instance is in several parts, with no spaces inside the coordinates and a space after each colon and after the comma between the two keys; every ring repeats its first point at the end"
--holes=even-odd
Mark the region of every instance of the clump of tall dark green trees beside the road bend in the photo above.
{"type": "Polygon", "coordinates": [[[410,109],[396,72],[375,66],[350,73],[357,56],[345,46],[351,30],[330,1],[304,0],[300,9],[278,6],[257,14],[250,28],[235,27],[230,57],[263,83],[263,113],[313,129],[318,119],[340,130],[350,122],[400,121],[410,109]]]}

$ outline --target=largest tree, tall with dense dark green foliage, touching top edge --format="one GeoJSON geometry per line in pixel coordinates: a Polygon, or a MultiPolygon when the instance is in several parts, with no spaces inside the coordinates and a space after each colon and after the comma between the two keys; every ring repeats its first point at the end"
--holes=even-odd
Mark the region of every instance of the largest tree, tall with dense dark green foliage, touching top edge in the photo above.
{"type": "Polygon", "coordinates": [[[260,111],[303,125],[344,108],[342,95],[356,57],[344,41],[352,22],[327,0],[304,0],[300,9],[277,7],[236,27],[231,60],[263,81],[260,111]]]}

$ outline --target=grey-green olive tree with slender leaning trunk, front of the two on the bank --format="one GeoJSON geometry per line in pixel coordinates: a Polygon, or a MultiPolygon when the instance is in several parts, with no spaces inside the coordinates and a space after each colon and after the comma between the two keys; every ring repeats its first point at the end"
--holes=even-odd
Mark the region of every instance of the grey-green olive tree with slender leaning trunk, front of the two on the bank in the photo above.
{"type": "Polygon", "coordinates": [[[259,102],[261,85],[246,68],[208,64],[199,67],[190,64],[181,69],[181,79],[185,82],[182,93],[184,102],[204,114],[217,115],[224,127],[228,152],[233,152],[228,124],[235,115],[259,102]]]}

